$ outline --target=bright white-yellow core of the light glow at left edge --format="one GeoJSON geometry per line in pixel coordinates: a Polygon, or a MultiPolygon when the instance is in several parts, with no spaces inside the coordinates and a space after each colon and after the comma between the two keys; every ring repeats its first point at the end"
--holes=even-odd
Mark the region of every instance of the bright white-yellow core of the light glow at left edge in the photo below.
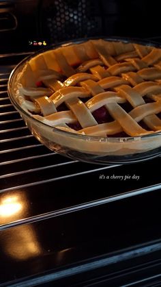
{"type": "Polygon", "coordinates": [[[5,197],[0,204],[0,216],[13,216],[23,209],[22,203],[18,202],[18,197],[5,197]]]}

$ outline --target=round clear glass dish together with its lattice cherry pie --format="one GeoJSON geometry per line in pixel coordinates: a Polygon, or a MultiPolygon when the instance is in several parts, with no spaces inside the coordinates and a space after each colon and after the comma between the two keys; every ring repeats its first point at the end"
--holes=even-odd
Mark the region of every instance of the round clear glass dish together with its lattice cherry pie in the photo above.
{"type": "Polygon", "coordinates": [[[49,149],[98,164],[161,154],[161,49],[90,39],[34,53],[12,71],[8,94],[49,149]]]}

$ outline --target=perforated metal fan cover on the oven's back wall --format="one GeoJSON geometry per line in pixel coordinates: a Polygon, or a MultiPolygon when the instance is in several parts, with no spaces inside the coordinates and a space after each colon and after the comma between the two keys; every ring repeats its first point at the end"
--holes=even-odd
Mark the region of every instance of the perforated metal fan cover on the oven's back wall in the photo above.
{"type": "Polygon", "coordinates": [[[100,9],[98,1],[49,1],[47,7],[44,5],[41,10],[43,34],[46,35],[47,32],[47,38],[50,38],[51,42],[101,34],[100,9]]]}

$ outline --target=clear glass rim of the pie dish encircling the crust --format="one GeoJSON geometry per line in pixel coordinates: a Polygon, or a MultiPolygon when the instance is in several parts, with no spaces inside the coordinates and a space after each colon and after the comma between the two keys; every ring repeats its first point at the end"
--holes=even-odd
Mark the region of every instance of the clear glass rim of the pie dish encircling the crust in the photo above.
{"type": "Polygon", "coordinates": [[[153,132],[152,134],[147,134],[143,136],[125,136],[125,137],[110,137],[108,136],[103,137],[103,136],[87,136],[84,134],[77,134],[77,133],[72,133],[72,132],[67,132],[62,129],[59,129],[57,127],[51,127],[50,125],[47,125],[46,123],[42,123],[41,121],[38,121],[36,118],[33,118],[30,114],[28,114],[23,108],[21,108],[20,105],[18,105],[18,101],[14,99],[14,96],[12,96],[13,93],[13,87],[12,87],[12,82],[14,81],[14,77],[16,77],[18,74],[16,73],[17,70],[22,66],[22,68],[25,66],[27,61],[31,60],[35,56],[39,55],[40,53],[44,53],[46,51],[50,51],[53,49],[57,49],[58,47],[65,47],[68,45],[72,44],[80,44],[82,42],[87,42],[87,40],[98,40],[98,39],[103,39],[103,40],[108,40],[108,41],[121,41],[121,42],[132,42],[140,45],[147,45],[147,46],[153,46],[153,47],[158,47],[161,48],[161,45],[158,42],[153,42],[149,40],[141,40],[138,38],[121,38],[121,37],[106,37],[106,36],[97,36],[97,37],[90,37],[90,38],[79,38],[75,40],[69,40],[69,41],[64,41],[64,42],[58,42],[57,44],[50,45],[49,47],[45,47],[43,49],[40,49],[39,51],[31,53],[31,55],[28,55],[25,59],[20,61],[15,68],[12,70],[10,73],[10,77],[8,79],[8,96],[10,100],[12,101],[13,105],[15,105],[16,110],[18,110],[21,114],[24,114],[31,122],[35,122],[35,124],[42,125],[42,127],[48,127],[48,129],[52,129],[54,132],[57,134],[62,134],[63,136],[72,136],[74,138],[79,138],[82,140],[93,140],[93,141],[98,141],[98,142],[138,142],[142,140],[146,140],[147,138],[152,138],[156,136],[160,136],[161,132],[153,132]]]}

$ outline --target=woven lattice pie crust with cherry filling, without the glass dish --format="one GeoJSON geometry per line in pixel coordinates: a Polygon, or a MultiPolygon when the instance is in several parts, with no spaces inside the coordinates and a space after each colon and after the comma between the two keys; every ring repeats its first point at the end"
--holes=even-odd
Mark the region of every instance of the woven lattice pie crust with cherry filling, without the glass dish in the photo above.
{"type": "Polygon", "coordinates": [[[39,121],[89,136],[161,131],[161,49],[89,40],[31,58],[17,97],[39,121]]]}

